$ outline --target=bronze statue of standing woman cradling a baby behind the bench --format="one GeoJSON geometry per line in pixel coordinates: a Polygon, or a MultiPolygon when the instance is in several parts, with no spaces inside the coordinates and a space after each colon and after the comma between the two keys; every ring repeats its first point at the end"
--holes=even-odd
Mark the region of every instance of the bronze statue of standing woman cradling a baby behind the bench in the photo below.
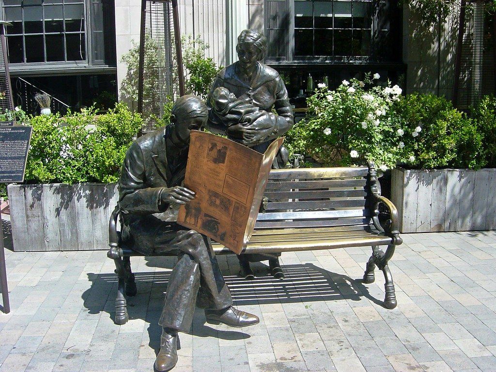
{"type": "MultiPolygon", "coordinates": [[[[293,110],[289,103],[288,92],[279,73],[273,68],[260,62],[265,57],[267,38],[258,30],[244,30],[238,37],[236,51],[238,62],[230,64],[219,72],[210,90],[207,106],[209,108],[207,127],[216,133],[227,135],[253,150],[265,152],[270,143],[286,133],[294,125],[293,110]],[[227,91],[219,91],[218,88],[227,91]],[[234,95],[237,101],[229,99],[234,95]],[[226,97],[229,102],[226,102],[226,97]],[[246,114],[239,113],[246,106],[246,114]],[[233,104],[231,111],[226,111],[229,104],[233,104]],[[216,109],[219,106],[222,110],[216,109]],[[258,108],[253,114],[252,108],[258,108]],[[272,112],[275,109],[277,114],[272,112]],[[239,124],[232,123],[238,115],[242,118],[239,124]],[[255,118],[253,115],[256,115],[255,118]]],[[[288,162],[288,151],[282,146],[272,168],[283,168],[288,162]]],[[[253,278],[249,261],[269,260],[270,271],[274,277],[283,279],[284,273],[279,264],[280,254],[242,254],[240,260],[240,274],[253,278]]]]}

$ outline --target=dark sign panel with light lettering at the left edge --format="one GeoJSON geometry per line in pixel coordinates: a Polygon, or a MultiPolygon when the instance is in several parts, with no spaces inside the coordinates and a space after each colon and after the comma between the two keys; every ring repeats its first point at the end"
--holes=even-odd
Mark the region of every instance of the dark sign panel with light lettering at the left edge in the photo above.
{"type": "Polygon", "coordinates": [[[0,183],[22,182],[32,126],[0,126],[0,183]]]}

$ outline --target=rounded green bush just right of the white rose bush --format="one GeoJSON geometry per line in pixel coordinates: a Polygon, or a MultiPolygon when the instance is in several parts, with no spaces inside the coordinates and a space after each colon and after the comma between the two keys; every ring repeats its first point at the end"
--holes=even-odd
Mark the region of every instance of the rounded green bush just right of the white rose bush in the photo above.
{"type": "Polygon", "coordinates": [[[414,153],[412,168],[472,168],[484,166],[482,135],[472,120],[443,97],[414,93],[395,104],[405,123],[405,148],[414,153]],[[413,137],[416,128],[420,135],[413,137]]]}

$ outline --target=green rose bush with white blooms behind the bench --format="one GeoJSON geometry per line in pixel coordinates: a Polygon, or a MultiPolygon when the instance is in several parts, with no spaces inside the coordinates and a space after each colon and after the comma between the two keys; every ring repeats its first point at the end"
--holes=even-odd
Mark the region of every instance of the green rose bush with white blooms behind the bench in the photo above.
{"type": "Polygon", "coordinates": [[[319,84],[307,100],[307,118],[286,135],[288,148],[329,166],[371,160],[382,170],[392,168],[411,156],[398,134],[404,123],[392,110],[400,93],[398,86],[373,86],[370,77],[344,80],[331,92],[319,84]]]}

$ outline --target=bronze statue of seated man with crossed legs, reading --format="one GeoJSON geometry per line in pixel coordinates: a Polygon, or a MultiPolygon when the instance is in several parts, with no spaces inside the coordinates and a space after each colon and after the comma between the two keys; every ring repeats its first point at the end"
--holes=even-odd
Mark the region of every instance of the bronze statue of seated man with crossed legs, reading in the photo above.
{"type": "Polygon", "coordinates": [[[178,361],[178,332],[188,332],[195,305],[207,321],[233,327],[256,324],[256,315],[235,309],[210,241],[175,222],[177,206],[194,198],[181,186],[186,171],[190,130],[201,130],[207,107],[196,96],[180,97],[171,124],[139,137],[129,147],[119,180],[119,205],[124,211],[123,240],[145,255],[175,252],[174,266],[160,317],[160,352],[155,370],[170,371],[178,361]]]}

